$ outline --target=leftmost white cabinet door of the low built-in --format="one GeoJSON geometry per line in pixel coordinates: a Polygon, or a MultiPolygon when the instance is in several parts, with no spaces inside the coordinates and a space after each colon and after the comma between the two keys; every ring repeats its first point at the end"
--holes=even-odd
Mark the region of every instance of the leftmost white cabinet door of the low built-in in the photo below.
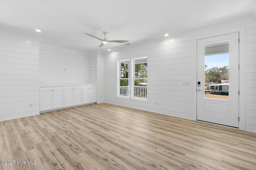
{"type": "Polygon", "coordinates": [[[52,109],[52,89],[40,89],[40,111],[52,109]]]}

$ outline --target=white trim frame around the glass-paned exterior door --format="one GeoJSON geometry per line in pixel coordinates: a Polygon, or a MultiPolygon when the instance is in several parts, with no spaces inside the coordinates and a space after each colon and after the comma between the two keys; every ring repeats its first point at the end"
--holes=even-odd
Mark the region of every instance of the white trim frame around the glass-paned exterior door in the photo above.
{"type": "Polygon", "coordinates": [[[240,117],[240,121],[238,123],[238,129],[240,130],[245,130],[245,59],[246,59],[246,44],[245,44],[245,29],[246,27],[241,24],[239,26],[234,26],[234,25],[229,25],[226,27],[222,27],[217,30],[217,31],[212,31],[212,28],[204,28],[198,30],[194,35],[192,35],[192,41],[193,41],[193,65],[194,65],[194,70],[193,70],[193,77],[192,77],[192,120],[196,120],[197,116],[197,41],[200,39],[206,39],[206,38],[211,38],[211,37],[218,37],[220,35],[226,35],[226,34],[231,34],[231,33],[239,33],[239,38],[240,38],[240,43],[239,43],[239,64],[240,64],[240,69],[239,69],[239,90],[240,90],[240,96],[239,96],[239,110],[238,110],[238,115],[240,117]]]}

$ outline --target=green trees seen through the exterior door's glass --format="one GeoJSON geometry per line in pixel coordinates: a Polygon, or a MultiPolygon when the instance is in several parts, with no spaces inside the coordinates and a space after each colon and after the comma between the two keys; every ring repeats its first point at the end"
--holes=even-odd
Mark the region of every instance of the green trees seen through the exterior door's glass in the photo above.
{"type": "MultiPolygon", "coordinates": [[[[205,65],[205,69],[207,65],[205,65]]],[[[224,66],[222,68],[213,67],[205,70],[205,83],[214,82],[221,83],[221,80],[229,79],[229,68],[228,66],[224,66]]]]}

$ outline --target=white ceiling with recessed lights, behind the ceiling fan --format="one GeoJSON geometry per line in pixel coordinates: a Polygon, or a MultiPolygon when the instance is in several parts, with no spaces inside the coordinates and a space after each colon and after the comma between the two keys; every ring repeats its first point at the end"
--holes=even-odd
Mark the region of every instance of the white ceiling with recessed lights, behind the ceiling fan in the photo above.
{"type": "Polygon", "coordinates": [[[98,48],[101,42],[84,32],[103,39],[106,31],[108,40],[133,44],[251,16],[255,6],[256,0],[0,0],[0,23],[1,28],[40,37],[42,43],[92,52],[124,44],[98,48]]]}

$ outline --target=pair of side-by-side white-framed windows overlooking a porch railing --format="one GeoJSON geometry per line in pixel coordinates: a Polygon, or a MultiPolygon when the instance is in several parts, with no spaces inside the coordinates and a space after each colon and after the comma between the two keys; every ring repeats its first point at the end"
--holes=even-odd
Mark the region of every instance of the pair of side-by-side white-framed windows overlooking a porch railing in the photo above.
{"type": "Polygon", "coordinates": [[[148,62],[147,57],[118,62],[118,96],[147,99],[148,62]],[[130,63],[132,62],[132,63],[130,63]],[[130,71],[130,70],[133,71],[130,71]],[[130,80],[132,83],[130,84],[130,80]],[[131,95],[132,94],[132,95],[131,95]]]}

